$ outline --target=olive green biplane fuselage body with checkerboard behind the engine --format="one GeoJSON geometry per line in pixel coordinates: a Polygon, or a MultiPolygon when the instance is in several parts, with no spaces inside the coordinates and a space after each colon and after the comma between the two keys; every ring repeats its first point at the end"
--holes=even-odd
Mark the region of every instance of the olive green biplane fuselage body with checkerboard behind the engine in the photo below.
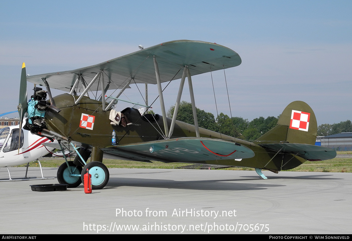
{"type": "MultiPolygon", "coordinates": [[[[143,118],[137,109],[126,108],[121,112],[124,113],[132,123],[123,127],[121,125],[111,125],[109,112],[102,110],[101,102],[83,97],[79,103],[75,104],[78,96],[62,94],[54,97],[56,107],[61,112],[56,113],[47,111],[45,116],[46,125],[50,131],[56,132],[71,141],[80,142],[97,148],[113,148],[111,143],[112,132],[116,132],[116,144],[125,145],[137,142],[156,141],[163,138],[163,116],[149,115],[149,121],[143,118]]],[[[171,119],[167,118],[168,126],[171,119]]],[[[207,129],[199,128],[200,137],[216,138],[236,142],[246,146],[256,154],[253,158],[236,159],[236,160],[213,160],[213,161],[195,161],[194,163],[220,164],[231,166],[245,166],[253,168],[263,168],[268,170],[281,170],[283,154],[277,154],[274,151],[224,134],[220,134],[207,129]],[[277,154],[277,155],[276,155],[277,154]],[[268,163],[268,160],[271,160],[268,163]]],[[[171,138],[179,137],[196,137],[195,127],[193,125],[176,121],[174,132],[171,138]]],[[[151,158],[152,160],[153,158],[151,158]]],[[[302,158],[292,161],[293,167],[302,164],[305,160],[302,158]],[[297,162],[298,161],[298,162],[297,162]]],[[[182,160],[180,160],[182,162],[182,160]]],[[[288,166],[290,169],[293,168],[288,166]]]]}

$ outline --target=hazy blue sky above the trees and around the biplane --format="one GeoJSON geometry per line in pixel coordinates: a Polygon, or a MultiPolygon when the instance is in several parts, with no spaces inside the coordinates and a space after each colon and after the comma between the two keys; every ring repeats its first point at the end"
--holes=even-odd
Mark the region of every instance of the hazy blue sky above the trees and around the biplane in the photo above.
{"type": "MultiPolygon", "coordinates": [[[[277,116],[302,100],[318,125],[351,120],[351,12],[352,1],[1,1],[0,113],[16,109],[22,62],[27,74],[43,74],[107,61],[139,44],[190,39],[241,56],[240,66],[226,70],[233,116],[277,116]]],[[[219,113],[230,115],[224,73],[213,80],[219,113]]],[[[165,90],[167,109],[178,84],[165,90]]],[[[193,86],[196,106],[216,115],[210,74],[194,76],[193,86]]],[[[149,90],[152,101],[157,88],[149,90]]],[[[136,91],[126,98],[142,102],[136,91]]],[[[182,100],[189,101],[187,88],[182,100]]],[[[160,113],[159,101],[153,107],[160,113]]]]}

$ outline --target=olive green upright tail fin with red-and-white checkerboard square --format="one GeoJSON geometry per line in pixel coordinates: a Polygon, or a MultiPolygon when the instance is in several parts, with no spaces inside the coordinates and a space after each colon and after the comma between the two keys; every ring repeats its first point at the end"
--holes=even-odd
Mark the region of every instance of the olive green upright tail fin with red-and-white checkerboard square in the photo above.
{"type": "Polygon", "coordinates": [[[254,143],[300,143],[314,145],[318,126],[315,114],[303,101],[290,103],[280,115],[277,126],[254,143]]]}

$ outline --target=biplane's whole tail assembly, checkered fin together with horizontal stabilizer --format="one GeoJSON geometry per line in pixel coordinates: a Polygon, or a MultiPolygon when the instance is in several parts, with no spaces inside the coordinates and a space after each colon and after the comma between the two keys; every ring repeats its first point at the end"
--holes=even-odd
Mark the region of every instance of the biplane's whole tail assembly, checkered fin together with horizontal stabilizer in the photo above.
{"type": "Polygon", "coordinates": [[[278,170],[289,170],[306,160],[318,161],[336,157],[335,150],[314,145],[317,130],[312,108],[302,101],[294,101],[284,109],[277,126],[254,143],[264,147],[268,153],[276,153],[270,161],[278,170]]]}

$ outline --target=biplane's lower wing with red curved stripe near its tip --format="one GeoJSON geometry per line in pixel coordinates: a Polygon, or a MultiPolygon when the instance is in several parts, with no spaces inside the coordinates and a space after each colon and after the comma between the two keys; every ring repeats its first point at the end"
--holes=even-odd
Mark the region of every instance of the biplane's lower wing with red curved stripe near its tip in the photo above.
{"type": "Polygon", "coordinates": [[[194,137],[111,146],[103,151],[131,160],[185,163],[254,157],[251,149],[238,143],[194,137]]]}

